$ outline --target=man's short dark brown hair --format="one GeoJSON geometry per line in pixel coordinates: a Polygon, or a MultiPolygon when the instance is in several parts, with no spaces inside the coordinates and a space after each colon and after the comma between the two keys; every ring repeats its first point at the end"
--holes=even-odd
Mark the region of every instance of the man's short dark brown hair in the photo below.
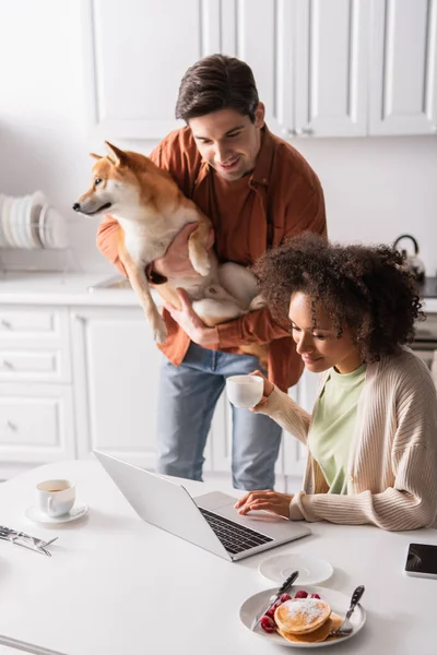
{"type": "Polygon", "coordinates": [[[220,109],[235,109],[255,121],[259,103],[250,67],[235,57],[211,55],[191,66],[182,78],[176,118],[186,122],[220,109]]]}

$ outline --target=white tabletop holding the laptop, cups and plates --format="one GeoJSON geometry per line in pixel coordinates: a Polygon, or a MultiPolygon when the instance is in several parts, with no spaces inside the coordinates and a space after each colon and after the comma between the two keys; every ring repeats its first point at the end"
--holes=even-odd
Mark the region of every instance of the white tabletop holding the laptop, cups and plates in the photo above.
{"type": "MultiPolygon", "coordinates": [[[[194,495],[211,490],[186,484],[194,495]]],[[[408,545],[437,544],[437,531],[316,523],[305,539],[229,563],[141,521],[97,462],[78,461],[1,484],[0,525],[59,535],[51,558],[0,541],[0,634],[67,655],[280,653],[243,627],[238,610],[273,586],[258,573],[259,562],[288,551],[328,559],[334,574],[326,586],[347,595],[366,586],[366,626],[327,654],[437,653],[437,581],[402,572],[408,545]],[[55,477],[76,483],[87,519],[45,527],[25,517],[35,484],[55,477]]]]}

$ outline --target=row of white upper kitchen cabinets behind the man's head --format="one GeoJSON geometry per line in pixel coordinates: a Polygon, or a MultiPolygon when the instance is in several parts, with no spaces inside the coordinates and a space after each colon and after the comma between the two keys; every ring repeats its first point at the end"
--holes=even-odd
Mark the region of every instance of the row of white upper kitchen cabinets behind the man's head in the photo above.
{"type": "Polygon", "coordinates": [[[437,130],[437,0],[82,1],[95,138],[182,126],[180,80],[213,52],[249,63],[286,140],[437,130]]]}

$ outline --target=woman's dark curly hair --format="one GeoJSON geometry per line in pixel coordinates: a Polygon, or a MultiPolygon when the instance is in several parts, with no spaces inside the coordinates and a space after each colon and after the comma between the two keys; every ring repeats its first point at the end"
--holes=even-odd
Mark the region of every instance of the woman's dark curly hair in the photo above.
{"type": "Polygon", "coordinates": [[[252,271],[281,323],[288,321],[291,296],[302,291],[314,315],[320,302],[339,336],[351,330],[367,362],[412,342],[415,320],[425,318],[404,257],[389,246],[342,246],[304,233],[265,252],[252,271]]]}

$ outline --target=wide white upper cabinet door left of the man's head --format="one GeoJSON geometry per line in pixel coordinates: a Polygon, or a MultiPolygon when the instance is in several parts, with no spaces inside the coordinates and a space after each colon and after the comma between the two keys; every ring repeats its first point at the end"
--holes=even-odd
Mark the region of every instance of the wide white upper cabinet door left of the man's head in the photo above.
{"type": "Polygon", "coordinates": [[[83,0],[95,136],[161,139],[182,126],[175,105],[186,70],[220,49],[218,0],[83,0]]]}

